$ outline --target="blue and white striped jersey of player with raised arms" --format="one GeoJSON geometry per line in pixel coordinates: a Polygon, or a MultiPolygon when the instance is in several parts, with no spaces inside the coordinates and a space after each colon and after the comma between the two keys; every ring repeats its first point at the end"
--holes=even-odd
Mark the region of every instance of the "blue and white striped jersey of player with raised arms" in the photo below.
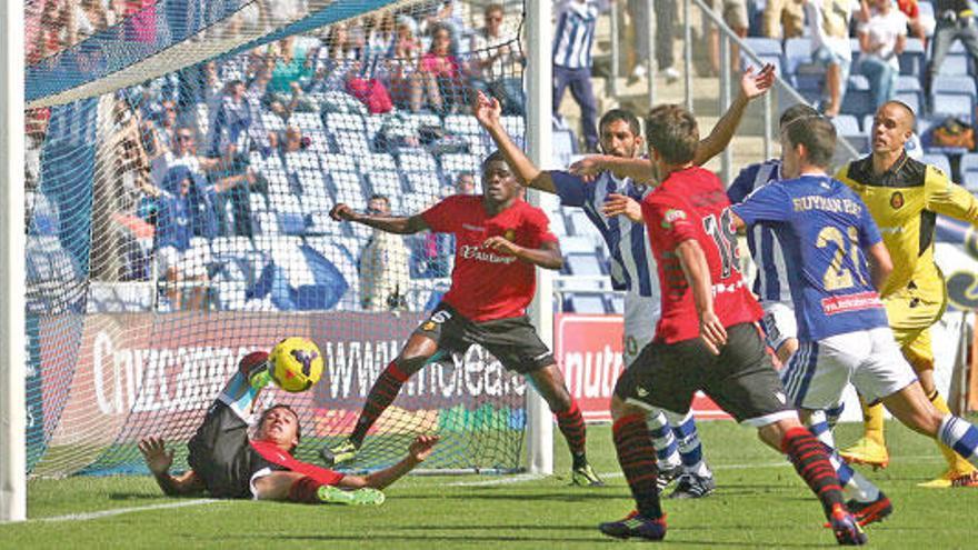
{"type": "Polygon", "coordinates": [[[612,288],[653,297],[658,302],[656,259],[652,257],[645,223],[635,223],[623,216],[608,218],[601,213],[601,207],[609,194],[625,194],[641,202],[651,188],[635,184],[627,178],[615,178],[610,172],[603,172],[593,183],[563,171],[552,171],[550,177],[560,203],[582,208],[591,223],[601,232],[611,253],[612,288]]]}

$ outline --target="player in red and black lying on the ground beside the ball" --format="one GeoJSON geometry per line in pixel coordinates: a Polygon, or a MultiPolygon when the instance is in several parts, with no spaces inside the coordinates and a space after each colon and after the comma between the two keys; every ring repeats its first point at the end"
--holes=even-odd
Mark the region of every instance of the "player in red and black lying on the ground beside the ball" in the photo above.
{"type": "Polygon", "coordinates": [[[246,356],[239,371],[207,411],[203,423],[187,444],[191,469],[172,476],[173,450],[162,438],[139,442],[146,464],[164,493],[217,498],[255,498],[292,502],[380,504],[385,487],[397,481],[431,454],[438,438],[419,436],[408,456],[390,468],[368,476],[348,476],[297,460],[299,417],[290,407],[277,404],[261,413],[255,438],[248,439],[248,421],[256,397],[270,379],[268,353],[246,356]]]}

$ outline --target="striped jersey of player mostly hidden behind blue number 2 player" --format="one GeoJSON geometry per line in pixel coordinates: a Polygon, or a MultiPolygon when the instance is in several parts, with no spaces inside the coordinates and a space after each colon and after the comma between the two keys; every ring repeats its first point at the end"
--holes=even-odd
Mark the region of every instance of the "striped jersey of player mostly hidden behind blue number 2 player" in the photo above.
{"type": "MultiPolygon", "coordinates": [[[[772,181],[781,179],[781,161],[771,159],[751,164],[737,176],[727,189],[727,198],[737,204],[772,181]]],[[[785,267],[785,254],[770,223],[755,223],[747,230],[747,246],[757,266],[757,278],[754,280],[754,293],[762,302],[791,302],[788,287],[788,269],[785,267]]]]}

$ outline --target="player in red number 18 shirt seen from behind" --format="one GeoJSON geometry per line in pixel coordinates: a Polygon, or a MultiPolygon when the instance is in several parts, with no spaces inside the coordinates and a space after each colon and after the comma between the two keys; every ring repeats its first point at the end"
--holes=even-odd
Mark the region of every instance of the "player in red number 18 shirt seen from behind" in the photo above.
{"type": "Polygon", "coordinates": [[[656,490],[656,461],[646,423],[650,408],[686,413],[702,390],[760,439],[788,454],[821,501],[840,544],[866,542],[842,502],[825,447],[801,426],[765,351],[761,310],[740,278],[730,204],[717,177],[692,164],[699,131],[678,106],[646,118],[646,142],[657,181],[642,216],[662,288],[656,339],[622,372],[611,398],[618,462],[637,510],[600,526],[611,537],[660,540],[666,519],[656,490]],[[729,211],[727,211],[729,212],[729,211]]]}

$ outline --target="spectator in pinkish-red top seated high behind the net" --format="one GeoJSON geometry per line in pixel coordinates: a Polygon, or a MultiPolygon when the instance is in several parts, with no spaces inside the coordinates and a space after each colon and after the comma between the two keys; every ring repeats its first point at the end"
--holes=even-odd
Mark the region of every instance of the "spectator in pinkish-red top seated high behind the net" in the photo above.
{"type": "Polygon", "coordinates": [[[458,112],[465,104],[462,64],[452,51],[452,40],[451,27],[432,27],[431,47],[419,64],[428,104],[439,113],[458,112]]]}

